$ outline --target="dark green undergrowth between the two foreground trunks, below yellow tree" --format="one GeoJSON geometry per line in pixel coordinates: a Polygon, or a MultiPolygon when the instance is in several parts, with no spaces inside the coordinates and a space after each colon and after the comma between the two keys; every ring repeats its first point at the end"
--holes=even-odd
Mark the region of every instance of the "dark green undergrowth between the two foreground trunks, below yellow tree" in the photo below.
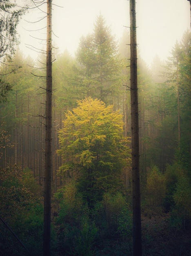
{"type": "Polygon", "coordinates": [[[56,227],[61,254],[110,255],[107,252],[111,248],[107,246],[111,246],[113,254],[122,255],[120,242],[116,242],[120,240],[127,243],[126,252],[131,252],[132,214],[124,195],[105,193],[103,200],[90,209],[82,202],[75,182],[71,181],[55,196],[60,201],[56,227]]]}

